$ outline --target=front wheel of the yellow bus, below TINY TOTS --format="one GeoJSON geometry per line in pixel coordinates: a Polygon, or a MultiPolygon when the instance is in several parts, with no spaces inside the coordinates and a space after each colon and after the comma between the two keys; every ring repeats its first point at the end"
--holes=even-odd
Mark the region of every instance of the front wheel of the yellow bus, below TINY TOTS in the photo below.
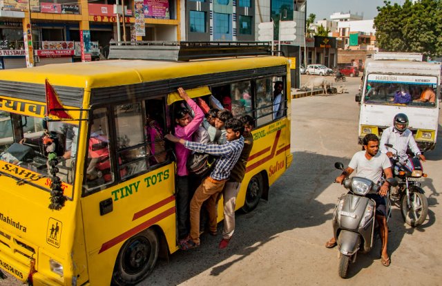
{"type": "Polygon", "coordinates": [[[152,229],[129,238],[121,249],[113,269],[113,285],[136,285],[151,274],[157,263],[160,245],[152,229]]]}

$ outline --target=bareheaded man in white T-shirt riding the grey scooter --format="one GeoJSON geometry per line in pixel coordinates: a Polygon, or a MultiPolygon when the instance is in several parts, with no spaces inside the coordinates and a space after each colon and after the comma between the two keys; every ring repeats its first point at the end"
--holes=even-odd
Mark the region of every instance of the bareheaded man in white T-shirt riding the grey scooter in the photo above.
{"type": "MultiPolygon", "coordinates": [[[[377,183],[381,180],[382,173],[385,178],[392,178],[392,169],[390,160],[387,155],[379,152],[379,138],[374,134],[367,134],[363,139],[363,151],[358,151],[353,155],[347,169],[336,178],[336,182],[342,184],[343,180],[349,177],[356,170],[358,177],[367,178],[377,183]],[[364,151],[365,150],[365,151],[364,151]]],[[[388,242],[388,225],[387,225],[387,209],[385,206],[385,196],[387,196],[390,184],[383,182],[379,193],[369,193],[367,198],[371,198],[376,202],[376,221],[379,225],[379,235],[382,241],[381,263],[384,266],[390,265],[390,256],[387,253],[388,242]]],[[[325,247],[332,248],[337,245],[335,238],[327,241],[325,247]]]]}

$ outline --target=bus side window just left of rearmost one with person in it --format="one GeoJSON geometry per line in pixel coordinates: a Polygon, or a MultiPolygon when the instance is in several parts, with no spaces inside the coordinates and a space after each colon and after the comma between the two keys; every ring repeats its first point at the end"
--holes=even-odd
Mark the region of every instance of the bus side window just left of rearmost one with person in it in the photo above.
{"type": "Polygon", "coordinates": [[[273,120],[273,86],[270,77],[256,79],[256,126],[262,126],[273,120]]]}

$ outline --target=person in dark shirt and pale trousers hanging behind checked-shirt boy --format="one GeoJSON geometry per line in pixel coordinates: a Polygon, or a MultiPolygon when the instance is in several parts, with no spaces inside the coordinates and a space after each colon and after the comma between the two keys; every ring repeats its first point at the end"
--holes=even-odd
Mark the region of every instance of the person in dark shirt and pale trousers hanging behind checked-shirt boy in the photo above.
{"type": "Polygon", "coordinates": [[[224,190],[222,191],[222,196],[224,197],[224,229],[222,230],[222,240],[220,241],[220,245],[218,245],[220,249],[224,249],[229,245],[233,231],[235,231],[236,196],[238,196],[238,192],[241,189],[241,182],[246,173],[247,159],[253,147],[253,135],[251,135],[253,117],[244,115],[240,120],[244,124],[244,132],[242,133],[242,137],[244,137],[244,148],[242,149],[238,162],[233,166],[230,178],[224,185],[224,190]]]}

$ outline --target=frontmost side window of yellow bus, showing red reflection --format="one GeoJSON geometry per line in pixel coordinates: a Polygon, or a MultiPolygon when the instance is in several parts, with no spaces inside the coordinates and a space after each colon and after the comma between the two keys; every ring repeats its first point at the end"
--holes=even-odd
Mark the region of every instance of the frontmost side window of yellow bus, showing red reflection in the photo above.
{"type": "Polygon", "coordinates": [[[107,108],[93,111],[88,141],[86,162],[86,188],[92,189],[114,181],[109,159],[109,128],[107,108]]]}

